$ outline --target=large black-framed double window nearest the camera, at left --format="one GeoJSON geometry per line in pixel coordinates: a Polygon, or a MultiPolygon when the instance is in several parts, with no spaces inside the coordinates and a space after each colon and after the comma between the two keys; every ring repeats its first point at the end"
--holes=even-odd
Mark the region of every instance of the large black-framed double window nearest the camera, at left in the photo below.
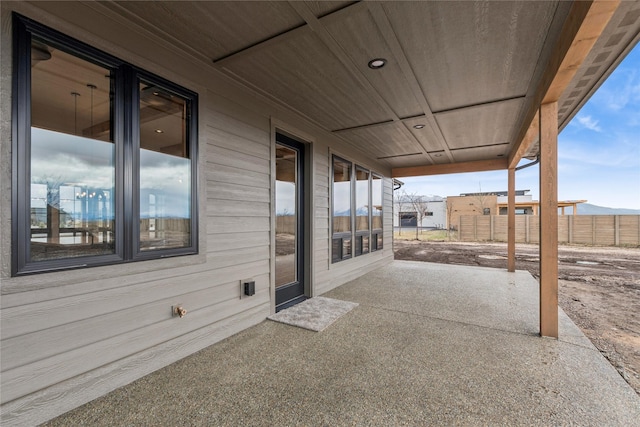
{"type": "Polygon", "coordinates": [[[197,95],[19,15],[14,274],[197,252],[197,95]]]}

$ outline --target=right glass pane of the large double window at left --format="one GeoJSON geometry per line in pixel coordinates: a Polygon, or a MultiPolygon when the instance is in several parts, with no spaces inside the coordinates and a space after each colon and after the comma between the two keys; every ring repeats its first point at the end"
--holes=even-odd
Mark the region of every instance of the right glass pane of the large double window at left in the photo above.
{"type": "Polygon", "coordinates": [[[191,245],[187,101],[140,84],[140,250],[191,245]]]}

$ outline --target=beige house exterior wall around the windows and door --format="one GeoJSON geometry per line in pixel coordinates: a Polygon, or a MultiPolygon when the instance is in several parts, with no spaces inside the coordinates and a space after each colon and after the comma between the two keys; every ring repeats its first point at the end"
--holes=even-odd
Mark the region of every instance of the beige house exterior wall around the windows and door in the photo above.
{"type": "MultiPolygon", "coordinates": [[[[1,3],[2,425],[35,425],[220,341],[274,311],[275,129],[310,144],[310,296],[393,259],[390,170],[99,4],[1,3]],[[199,253],[11,277],[11,13],[199,95],[199,253]],[[384,249],[331,264],[331,154],[383,176],[384,249]],[[238,212],[243,212],[238,215],[238,212]],[[240,298],[240,281],[256,294],[240,298]],[[172,317],[171,306],[188,310],[172,317]]],[[[215,361],[212,361],[215,363],[215,361]]]]}

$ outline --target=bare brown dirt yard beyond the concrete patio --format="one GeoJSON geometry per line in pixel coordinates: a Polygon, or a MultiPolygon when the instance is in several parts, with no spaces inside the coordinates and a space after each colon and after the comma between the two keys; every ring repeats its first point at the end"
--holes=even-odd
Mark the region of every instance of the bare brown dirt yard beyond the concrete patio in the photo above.
{"type": "MultiPolygon", "coordinates": [[[[395,259],[506,268],[506,243],[394,240],[395,259]]],[[[559,303],[640,394],[640,248],[560,246],[559,303]]],[[[516,268],[539,277],[537,245],[516,245],[516,268]]]]}

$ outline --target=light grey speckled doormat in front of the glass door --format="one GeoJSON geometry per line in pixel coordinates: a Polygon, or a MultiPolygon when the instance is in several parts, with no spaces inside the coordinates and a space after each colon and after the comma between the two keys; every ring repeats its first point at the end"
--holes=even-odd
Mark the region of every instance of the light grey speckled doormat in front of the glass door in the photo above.
{"type": "Polygon", "coordinates": [[[268,319],[320,332],[357,306],[356,302],[315,297],[273,314],[268,319]]]}

